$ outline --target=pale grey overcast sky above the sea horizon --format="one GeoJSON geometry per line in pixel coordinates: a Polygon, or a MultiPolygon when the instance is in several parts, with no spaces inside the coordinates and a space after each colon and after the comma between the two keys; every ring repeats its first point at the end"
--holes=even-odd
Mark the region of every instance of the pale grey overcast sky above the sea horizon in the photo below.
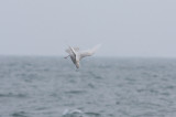
{"type": "Polygon", "coordinates": [[[176,0],[1,0],[0,55],[176,57],[176,0]]]}

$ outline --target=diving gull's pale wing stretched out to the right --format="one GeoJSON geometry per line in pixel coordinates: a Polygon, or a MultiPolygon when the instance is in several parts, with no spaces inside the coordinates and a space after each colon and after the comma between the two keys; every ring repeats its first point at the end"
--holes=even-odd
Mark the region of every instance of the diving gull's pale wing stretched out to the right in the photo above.
{"type": "Polygon", "coordinates": [[[86,57],[86,56],[91,56],[91,55],[94,55],[94,54],[96,53],[96,51],[97,51],[100,46],[101,46],[101,45],[98,44],[98,45],[96,45],[95,47],[92,47],[91,50],[80,52],[80,53],[79,53],[80,59],[86,57]]]}

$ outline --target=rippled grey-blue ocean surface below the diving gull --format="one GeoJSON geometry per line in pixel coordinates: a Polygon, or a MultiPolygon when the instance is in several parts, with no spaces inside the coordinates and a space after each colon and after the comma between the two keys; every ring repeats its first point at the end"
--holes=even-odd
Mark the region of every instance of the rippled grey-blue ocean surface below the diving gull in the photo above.
{"type": "Polygon", "coordinates": [[[0,56],[0,117],[176,117],[176,60],[0,56]],[[65,116],[67,117],[67,116],[65,116]]]}

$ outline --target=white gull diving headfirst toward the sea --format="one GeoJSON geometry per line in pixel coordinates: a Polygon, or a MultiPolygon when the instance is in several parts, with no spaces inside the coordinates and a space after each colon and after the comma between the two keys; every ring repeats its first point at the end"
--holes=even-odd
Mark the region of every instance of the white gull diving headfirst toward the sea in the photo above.
{"type": "Polygon", "coordinates": [[[100,47],[100,44],[96,45],[95,47],[87,50],[87,51],[79,51],[79,47],[72,47],[68,46],[68,49],[66,50],[66,52],[69,54],[67,55],[65,59],[70,57],[70,60],[73,61],[73,63],[75,64],[75,66],[77,68],[79,68],[79,62],[81,59],[86,57],[86,56],[91,56],[95,54],[95,52],[100,47]]]}

